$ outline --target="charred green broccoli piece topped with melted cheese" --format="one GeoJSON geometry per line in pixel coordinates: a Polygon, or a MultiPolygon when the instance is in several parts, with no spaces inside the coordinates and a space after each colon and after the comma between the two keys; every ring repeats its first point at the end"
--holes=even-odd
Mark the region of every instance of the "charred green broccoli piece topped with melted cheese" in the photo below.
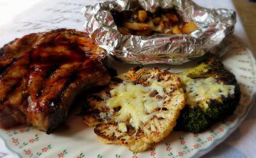
{"type": "Polygon", "coordinates": [[[236,77],[224,68],[219,59],[211,57],[195,68],[178,75],[182,80],[187,102],[186,108],[180,113],[175,129],[201,133],[215,122],[232,115],[236,110],[241,95],[239,85],[236,77]],[[210,91],[212,89],[215,91],[210,91]],[[219,95],[210,92],[207,95],[207,91],[219,93],[219,95]]]}

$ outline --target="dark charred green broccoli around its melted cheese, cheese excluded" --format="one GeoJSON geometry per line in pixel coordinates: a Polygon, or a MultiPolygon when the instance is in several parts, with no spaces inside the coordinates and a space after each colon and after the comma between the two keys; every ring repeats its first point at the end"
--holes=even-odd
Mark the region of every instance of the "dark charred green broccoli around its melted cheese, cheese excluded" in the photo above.
{"type": "Polygon", "coordinates": [[[179,73],[179,75],[188,76],[193,79],[214,77],[218,83],[234,85],[235,88],[234,94],[228,94],[227,97],[221,96],[220,99],[207,100],[207,108],[187,104],[186,108],[180,113],[175,129],[191,133],[201,133],[209,129],[215,122],[225,119],[228,115],[232,115],[236,110],[241,95],[239,85],[236,77],[224,68],[219,59],[211,57],[201,62],[195,68],[179,73]]]}

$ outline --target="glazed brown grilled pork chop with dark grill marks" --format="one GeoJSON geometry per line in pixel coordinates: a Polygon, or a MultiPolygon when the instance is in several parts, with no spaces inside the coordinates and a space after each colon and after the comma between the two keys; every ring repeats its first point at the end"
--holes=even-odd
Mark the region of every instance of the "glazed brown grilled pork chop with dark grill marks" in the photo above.
{"type": "Polygon", "coordinates": [[[105,51],[83,32],[29,34],[0,52],[0,127],[27,123],[50,132],[77,94],[109,82],[105,51]]]}

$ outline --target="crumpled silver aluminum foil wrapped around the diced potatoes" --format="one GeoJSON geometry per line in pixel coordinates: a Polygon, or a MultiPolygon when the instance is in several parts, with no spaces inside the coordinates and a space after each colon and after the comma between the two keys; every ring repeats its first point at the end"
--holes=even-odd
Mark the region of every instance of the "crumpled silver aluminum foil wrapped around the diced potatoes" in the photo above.
{"type": "Polygon", "coordinates": [[[116,0],[83,8],[84,31],[97,45],[119,61],[131,64],[182,64],[207,52],[216,51],[221,42],[234,32],[236,12],[227,9],[207,9],[190,0],[116,0]],[[121,34],[111,10],[134,10],[134,6],[154,13],[157,8],[174,8],[184,22],[194,21],[198,30],[191,34],[154,34],[134,36],[121,34]]]}

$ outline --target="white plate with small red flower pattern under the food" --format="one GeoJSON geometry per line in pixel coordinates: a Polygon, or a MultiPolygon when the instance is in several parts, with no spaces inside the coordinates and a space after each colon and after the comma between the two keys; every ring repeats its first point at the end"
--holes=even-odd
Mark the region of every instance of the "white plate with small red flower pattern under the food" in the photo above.
{"type": "MultiPolygon", "coordinates": [[[[73,111],[65,122],[54,133],[48,135],[33,127],[15,127],[9,130],[0,129],[0,137],[7,148],[17,157],[199,157],[218,143],[225,140],[243,121],[252,106],[255,94],[255,59],[252,52],[236,37],[229,39],[230,50],[222,57],[226,68],[232,71],[241,87],[241,101],[234,115],[224,122],[215,124],[211,129],[200,134],[172,132],[160,143],[143,153],[133,153],[118,145],[105,145],[93,133],[92,127],[83,124],[81,117],[73,111]]],[[[118,73],[127,71],[134,65],[109,61],[118,73]]],[[[196,61],[182,66],[150,65],[148,68],[171,68],[177,72],[196,65],[196,61]]]]}

